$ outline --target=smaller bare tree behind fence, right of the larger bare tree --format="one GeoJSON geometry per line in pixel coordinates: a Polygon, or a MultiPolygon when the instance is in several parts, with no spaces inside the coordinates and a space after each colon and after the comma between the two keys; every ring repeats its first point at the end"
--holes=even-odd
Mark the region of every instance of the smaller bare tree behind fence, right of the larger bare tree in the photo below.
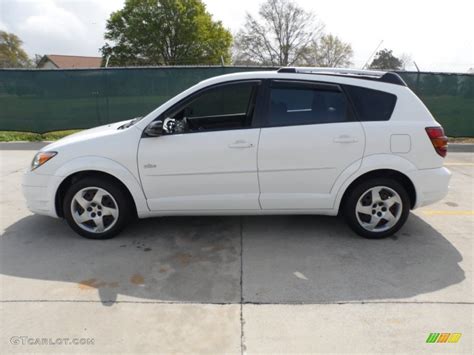
{"type": "Polygon", "coordinates": [[[332,34],[323,35],[315,41],[305,55],[308,65],[343,68],[352,64],[352,46],[332,34]]]}

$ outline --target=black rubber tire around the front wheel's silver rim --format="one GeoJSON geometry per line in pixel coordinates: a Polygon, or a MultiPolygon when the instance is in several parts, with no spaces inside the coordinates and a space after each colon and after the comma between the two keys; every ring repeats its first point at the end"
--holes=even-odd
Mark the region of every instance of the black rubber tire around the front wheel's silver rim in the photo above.
{"type": "MultiPolygon", "coordinates": [[[[76,233],[88,239],[101,240],[112,238],[125,228],[133,216],[133,210],[131,208],[132,205],[133,204],[131,201],[129,201],[129,195],[123,190],[123,187],[117,184],[115,181],[99,177],[85,177],[73,183],[67,190],[63,201],[63,213],[69,226],[76,233]],[[112,206],[114,206],[115,203],[117,205],[118,218],[115,219],[115,224],[104,232],[91,232],[81,228],[81,226],[76,223],[72,215],[71,203],[74,196],[77,192],[89,187],[91,190],[93,190],[94,187],[105,190],[115,200],[112,202],[112,206]]],[[[103,218],[106,217],[104,216],[103,218]]]]}

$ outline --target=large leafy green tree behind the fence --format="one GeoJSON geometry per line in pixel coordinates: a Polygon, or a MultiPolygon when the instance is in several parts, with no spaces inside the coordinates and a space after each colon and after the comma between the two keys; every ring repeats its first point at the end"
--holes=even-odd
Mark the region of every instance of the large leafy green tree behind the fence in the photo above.
{"type": "Polygon", "coordinates": [[[107,21],[101,48],[109,65],[230,62],[232,35],[201,0],[126,0],[107,21]]]}

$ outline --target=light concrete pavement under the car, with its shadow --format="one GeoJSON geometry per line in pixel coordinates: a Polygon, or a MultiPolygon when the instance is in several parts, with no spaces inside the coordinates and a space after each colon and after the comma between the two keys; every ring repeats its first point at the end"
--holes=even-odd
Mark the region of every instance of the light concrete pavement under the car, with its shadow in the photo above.
{"type": "Polygon", "coordinates": [[[33,154],[0,151],[1,353],[472,353],[471,153],[449,155],[445,200],[375,241],[313,216],[159,218],[82,239],[26,210],[33,154]],[[426,344],[432,332],[462,337],[426,344]]]}

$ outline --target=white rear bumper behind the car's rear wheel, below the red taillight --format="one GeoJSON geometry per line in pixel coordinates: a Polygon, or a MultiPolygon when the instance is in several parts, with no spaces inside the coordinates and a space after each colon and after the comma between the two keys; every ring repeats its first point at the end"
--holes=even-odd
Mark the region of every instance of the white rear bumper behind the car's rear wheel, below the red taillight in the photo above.
{"type": "Polygon", "coordinates": [[[415,208],[418,208],[435,203],[448,194],[451,172],[444,167],[423,169],[410,174],[410,178],[415,185],[415,208]]]}

